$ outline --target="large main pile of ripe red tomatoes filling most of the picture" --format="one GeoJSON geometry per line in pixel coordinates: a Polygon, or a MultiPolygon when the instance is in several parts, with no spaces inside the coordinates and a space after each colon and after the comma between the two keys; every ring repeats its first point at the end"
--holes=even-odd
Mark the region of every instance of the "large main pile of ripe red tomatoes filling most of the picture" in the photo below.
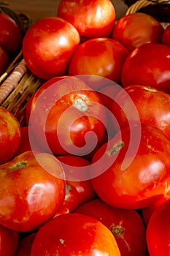
{"type": "Polygon", "coordinates": [[[169,255],[170,26],[62,0],[22,48],[44,82],[24,127],[0,108],[0,255],[169,255]]]}

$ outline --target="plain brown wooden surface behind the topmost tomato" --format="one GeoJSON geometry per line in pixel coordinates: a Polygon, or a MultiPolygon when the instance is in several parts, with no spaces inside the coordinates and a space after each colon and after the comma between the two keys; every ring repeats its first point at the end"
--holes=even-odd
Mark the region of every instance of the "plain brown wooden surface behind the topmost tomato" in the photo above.
{"type": "MultiPolygon", "coordinates": [[[[32,23],[40,18],[55,16],[60,1],[58,0],[6,0],[10,7],[18,12],[28,15],[32,23]]],[[[120,18],[125,14],[127,6],[123,0],[112,0],[115,6],[116,18],[120,18]]]]}

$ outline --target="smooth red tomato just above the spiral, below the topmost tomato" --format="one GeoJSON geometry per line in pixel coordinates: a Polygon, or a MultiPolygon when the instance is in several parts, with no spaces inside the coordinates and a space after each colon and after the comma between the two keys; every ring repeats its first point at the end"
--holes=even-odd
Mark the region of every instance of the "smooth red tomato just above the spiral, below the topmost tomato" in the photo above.
{"type": "Polygon", "coordinates": [[[69,62],[69,75],[98,75],[120,83],[127,56],[128,50],[115,39],[88,39],[74,51],[69,62]]]}

